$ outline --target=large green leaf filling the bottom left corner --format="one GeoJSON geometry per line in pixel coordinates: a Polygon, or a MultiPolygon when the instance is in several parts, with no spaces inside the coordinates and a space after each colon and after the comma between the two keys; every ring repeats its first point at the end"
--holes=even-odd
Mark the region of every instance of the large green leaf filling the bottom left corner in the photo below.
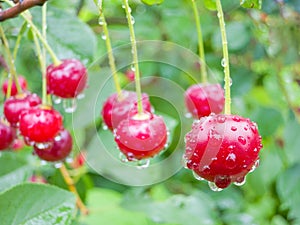
{"type": "Polygon", "coordinates": [[[22,184],[0,195],[1,224],[67,225],[75,196],[54,186],[22,184]]]}

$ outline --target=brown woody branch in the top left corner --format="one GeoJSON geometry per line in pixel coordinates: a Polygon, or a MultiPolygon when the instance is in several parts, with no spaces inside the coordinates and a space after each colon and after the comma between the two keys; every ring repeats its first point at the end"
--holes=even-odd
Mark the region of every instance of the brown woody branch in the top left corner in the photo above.
{"type": "Polygon", "coordinates": [[[23,0],[23,1],[14,1],[18,2],[15,6],[12,6],[6,10],[0,11],[0,22],[3,22],[7,19],[14,18],[18,16],[23,11],[30,9],[35,6],[42,6],[47,0],[23,0]]]}

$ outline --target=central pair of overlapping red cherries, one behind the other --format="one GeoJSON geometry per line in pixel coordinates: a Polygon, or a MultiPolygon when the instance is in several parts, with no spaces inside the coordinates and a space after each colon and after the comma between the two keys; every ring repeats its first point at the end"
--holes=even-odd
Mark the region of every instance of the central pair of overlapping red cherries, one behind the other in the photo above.
{"type": "Polygon", "coordinates": [[[126,157],[123,161],[148,160],[160,153],[167,143],[166,124],[161,116],[153,113],[147,94],[142,94],[141,103],[142,113],[138,112],[137,94],[123,90],[109,96],[103,104],[103,122],[113,131],[115,141],[126,157]]]}

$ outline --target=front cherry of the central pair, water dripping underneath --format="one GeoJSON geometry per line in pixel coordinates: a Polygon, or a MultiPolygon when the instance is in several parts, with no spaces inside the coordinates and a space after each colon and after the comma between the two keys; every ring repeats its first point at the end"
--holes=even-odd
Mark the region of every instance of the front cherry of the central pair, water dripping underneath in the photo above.
{"type": "Polygon", "coordinates": [[[163,118],[151,113],[123,120],[115,132],[115,141],[129,161],[153,157],[164,149],[167,139],[163,118]]]}

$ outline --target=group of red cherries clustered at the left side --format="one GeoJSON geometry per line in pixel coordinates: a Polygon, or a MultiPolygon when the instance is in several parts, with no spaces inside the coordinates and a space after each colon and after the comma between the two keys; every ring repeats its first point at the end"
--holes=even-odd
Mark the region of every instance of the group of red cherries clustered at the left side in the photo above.
{"type": "MultiPolygon", "coordinates": [[[[48,94],[60,98],[74,98],[86,87],[87,71],[75,59],[63,60],[59,65],[49,65],[46,72],[48,94]]],[[[71,152],[73,140],[63,127],[63,117],[51,104],[27,90],[26,79],[18,76],[12,85],[6,80],[2,85],[6,98],[4,117],[0,122],[0,150],[12,147],[20,138],[34,153],[45,161],[64,160],[71,152]],[[22,91],[17,90],[16,82],[22,91]],[[9,87],[11,86],[11,87],[9,87]]]]}

